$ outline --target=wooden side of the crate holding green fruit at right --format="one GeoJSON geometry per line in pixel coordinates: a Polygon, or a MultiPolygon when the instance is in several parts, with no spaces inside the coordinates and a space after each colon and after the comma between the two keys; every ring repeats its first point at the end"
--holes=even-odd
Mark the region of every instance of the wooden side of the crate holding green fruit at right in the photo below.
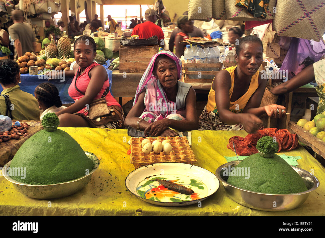
{"type": "Polygon", "coordinates": [[[310,134],[308,131],[304,130],[294,122],[289,122],[288,130],[290,133],[297,134],[298,140],[304,143],[306,146],[311,147],[316,154],[325,158],[325,142],[310,134]]]}

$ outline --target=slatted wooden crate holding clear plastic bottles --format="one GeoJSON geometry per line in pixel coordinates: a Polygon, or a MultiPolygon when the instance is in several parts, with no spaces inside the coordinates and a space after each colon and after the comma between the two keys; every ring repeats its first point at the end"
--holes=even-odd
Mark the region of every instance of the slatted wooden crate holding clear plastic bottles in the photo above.
{"type": "Polygon", "coordinates": [[[182,75],[185,83],[212,83],[212,80],[217,72],[222,68],[222,63],[217,64],[199,64],[199,63],[184,63],[182,61],[182,75]],[[189,68],[206,68],[207,70],[189,70],[189,68]],[[209,68],[219,68],[218,71],[208,70],[209,68]],[[208,78],[206,78],[208,77],[208,78]]]}

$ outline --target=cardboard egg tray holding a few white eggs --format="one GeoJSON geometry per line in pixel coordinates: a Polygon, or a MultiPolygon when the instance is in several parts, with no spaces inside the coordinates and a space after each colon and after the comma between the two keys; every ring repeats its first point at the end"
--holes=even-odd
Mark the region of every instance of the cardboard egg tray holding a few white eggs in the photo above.
{"type": "Polygon", "coordinates": [[[141,166],[154,164],[154,163],[165,163],[165,162],[176,162],[193,164],[196,161],[193,150],[189,147],[188,140],[186,137],[139,137],[131,138],[131,163],[137,169],[141,166]],[[150,151],[149,154],[142,152],[141,142],[143,139],[148,139],[150,143],[154,140],[162,142],[163,140],[169,140],[172,146],[170,153],[166,154],[164,151],[160,151],[159,154],[155,154],[150,151]]]}

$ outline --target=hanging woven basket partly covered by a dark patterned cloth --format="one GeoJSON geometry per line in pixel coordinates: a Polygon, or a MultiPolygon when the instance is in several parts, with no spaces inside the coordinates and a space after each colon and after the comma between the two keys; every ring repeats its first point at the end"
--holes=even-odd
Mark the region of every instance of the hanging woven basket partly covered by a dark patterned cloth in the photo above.
{"type": "Polygon", "coordinates": [[[250,16],[247,13],[246,7],[238,7],[236,5],[236,0],[225,0],[226,6],[226,17],[227,20],[232,21],[266,21],[274,18],[273,7],[275,7],[275,0],[270,1],[268,6],[267,16],[266,18],[255,18],[250,16]]]}

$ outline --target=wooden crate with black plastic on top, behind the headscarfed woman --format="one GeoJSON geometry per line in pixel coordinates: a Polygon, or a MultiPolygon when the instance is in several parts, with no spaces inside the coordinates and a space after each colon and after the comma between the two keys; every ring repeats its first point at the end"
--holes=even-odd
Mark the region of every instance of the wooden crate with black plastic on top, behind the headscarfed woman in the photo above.
{"type": "Polygon", "coordinates": [[[158,45],[120,46],[120,73],[144,73],[151,57],[158,51],[158,45]]]}

